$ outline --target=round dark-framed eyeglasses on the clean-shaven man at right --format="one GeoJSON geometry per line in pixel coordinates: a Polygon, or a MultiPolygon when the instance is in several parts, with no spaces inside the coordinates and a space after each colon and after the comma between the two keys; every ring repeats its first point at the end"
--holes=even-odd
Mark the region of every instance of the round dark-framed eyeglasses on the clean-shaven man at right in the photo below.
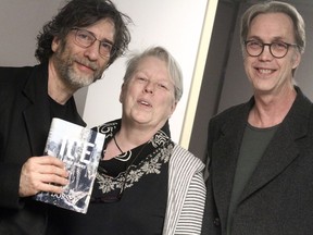
{"type": "Polygon", "coordinates": [[[272,44],[263,44],[259,40],[247,40],[245,41],[246,51],[250,57],[259,57],[263,51],[264,47],[268,46],[270,52],[274,58],[284,58],[289,47],[298,47],[297,44],[287,44],[284,41],[274,41],[272,44]]]}

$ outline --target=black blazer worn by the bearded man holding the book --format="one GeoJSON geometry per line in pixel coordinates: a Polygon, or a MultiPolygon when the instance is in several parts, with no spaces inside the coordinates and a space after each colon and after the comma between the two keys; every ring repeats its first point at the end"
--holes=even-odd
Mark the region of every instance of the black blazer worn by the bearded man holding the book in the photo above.
{"type": "MultiPolygon", "coordinates": [[[[21,169],[42,156],[50,127],[48,64],[0,67],[0,234],[43,234],[45,205],[18,197],[21,169]]],[[[76,111],[75,122],[86,125],[76,111]]]]}

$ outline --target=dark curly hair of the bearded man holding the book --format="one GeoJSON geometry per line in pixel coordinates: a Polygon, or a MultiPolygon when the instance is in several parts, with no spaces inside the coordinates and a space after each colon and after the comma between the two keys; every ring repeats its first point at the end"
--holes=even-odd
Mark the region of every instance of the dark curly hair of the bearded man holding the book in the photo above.
{"type": "Polygon", "coordinates": [[[37,36],[35,57],[38,61],[46,62],[53,54],[51,44],[54,37],[64,40],[73,27],[87,27],[96,22],[110,18],[114,23],[114,47],[116,52],[109,59],[108,67],[125,53],[130,41],[127,25],[132,20],[126,14],[117,11],[110,0],[72,0],[47,24],[37,36]]]}

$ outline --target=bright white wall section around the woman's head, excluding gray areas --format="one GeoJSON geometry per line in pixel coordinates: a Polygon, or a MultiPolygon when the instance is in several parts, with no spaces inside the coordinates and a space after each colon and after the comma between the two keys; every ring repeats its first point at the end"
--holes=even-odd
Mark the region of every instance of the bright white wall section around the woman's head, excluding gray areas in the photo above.
{"type": "MultiPolygon", "coordinates": [[[[198,45],[209,0],[113,0],[116,7],[128,14],[130,51],[149,46],[165,47],[178,61],[184,74],[184,95],[170,120],[172,137],[178,143],[188,100],[198,45]]],[[[125,72],[125,58],[118,59],[103,79],[88,88],[84,120],[89,126],[121,116],[120,88],[125,72]]]]}

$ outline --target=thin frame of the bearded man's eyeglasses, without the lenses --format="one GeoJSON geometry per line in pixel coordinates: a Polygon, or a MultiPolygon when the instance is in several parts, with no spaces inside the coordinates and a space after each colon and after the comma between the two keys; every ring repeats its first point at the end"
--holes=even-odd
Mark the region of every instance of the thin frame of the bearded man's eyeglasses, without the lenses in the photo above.
{"type": "Polygon", "coordinates": [[[102,58],[111,58],[111,57],[114,55],[114,53],[116,53],[116,51],[117,51],[117,48],[114,47],[114,45],[113,45],[110,40],[108,40],[108,39],[99,40],[99,39],[93,35],[93,33],[90,32],[90,30],[87,30],[87,29],[85,29],[85,28],[79,28],[79,27],[73,27],[73,28],[71,28],[71,30],[76,30],[76,32],[75,32],[74,41],[75,41],[76,45],[79,46],[79,47],[89,48],[89,47],[91,47],[96,41],[99,41],[100,44],[99,44],[98,51],[99,51],[99,54],[100,54],[102,58]],[[91,42],[89,46],[86,46],[86,45],[79,42],[79,39],[77,40],[77,38],[78,38],[78,33],[79,33],[79,32],[85,32],[85,33],[88,34],[88,36],[90,36],[90,37],[92,38],[92,42],[91,42]],[[101,47],[103,44],[111,46],[111,50],[110,50],[109,54],[102,54],[102,53],[100,52],[100,47],[101,47]]]}

